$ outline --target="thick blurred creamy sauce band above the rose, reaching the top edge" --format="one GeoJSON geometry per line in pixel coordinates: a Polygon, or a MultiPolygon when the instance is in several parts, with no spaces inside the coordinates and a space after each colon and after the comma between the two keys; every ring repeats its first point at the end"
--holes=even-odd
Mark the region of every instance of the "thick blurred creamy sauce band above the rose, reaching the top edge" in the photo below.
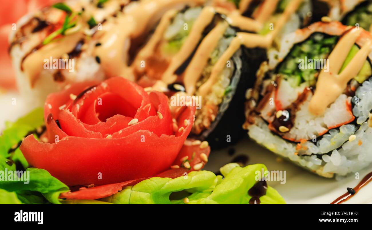
{"type": "Polygon", "coordinates": [[[138,7],[117,18],[114,28],[106,32],[100,40],[102,45],[96,49],[107,77],[123,76],[134,81],[132,69],[126,56],[130,39],[147,32],[158,17],[168,9],[184,7],[186,4],[200,4],[204,0],[157,0],[142,1],[138,7]]]}

